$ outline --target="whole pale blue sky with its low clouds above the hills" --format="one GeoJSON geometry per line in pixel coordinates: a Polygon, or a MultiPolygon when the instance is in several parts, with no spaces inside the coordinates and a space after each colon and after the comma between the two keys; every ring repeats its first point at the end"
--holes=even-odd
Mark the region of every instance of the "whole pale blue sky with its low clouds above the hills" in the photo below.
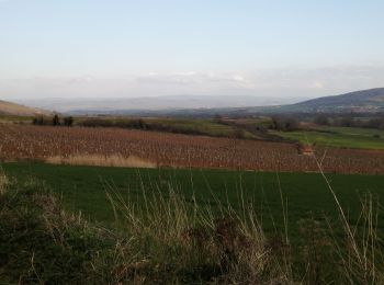
{"type": "Polygon", "coordinates": [[[384,87],[382,0],[0,0],[0,99],[384,87]]]}

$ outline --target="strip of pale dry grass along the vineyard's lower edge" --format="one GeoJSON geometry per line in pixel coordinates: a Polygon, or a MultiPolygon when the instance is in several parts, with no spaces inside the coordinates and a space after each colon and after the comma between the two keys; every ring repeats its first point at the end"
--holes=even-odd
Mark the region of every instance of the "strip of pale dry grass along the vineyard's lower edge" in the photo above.
{"type": "Polygon", "coordinates": [[[45,160],[53,164],[116,167],[116,168],[156,168],[156,163],[135,157],[123,157],[120,155],[76,155],[69,157],[49,157],[45,160]]]}

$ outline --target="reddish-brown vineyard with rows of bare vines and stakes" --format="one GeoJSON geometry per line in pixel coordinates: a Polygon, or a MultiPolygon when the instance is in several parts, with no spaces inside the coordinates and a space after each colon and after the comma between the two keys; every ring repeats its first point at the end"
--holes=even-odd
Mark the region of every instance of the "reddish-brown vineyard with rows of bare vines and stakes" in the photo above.
{"type": "MultiPolygon", "coordinates": [[[[384,151],[317,148],[327,172],[384,174],[384,151]]],[[[317,171],[315,157],[292,144],[212,138],[143,130],[0,125],[0,158],[47,159],[74,155],[135,156],[159,167],[317,171]]]]}

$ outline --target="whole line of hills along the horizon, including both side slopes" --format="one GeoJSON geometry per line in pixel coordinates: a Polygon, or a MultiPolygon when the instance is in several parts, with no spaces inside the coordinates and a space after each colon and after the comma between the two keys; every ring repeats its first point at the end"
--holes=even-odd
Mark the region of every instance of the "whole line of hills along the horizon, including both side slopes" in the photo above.
{"type": "Polygon", "coordinates": [[[74,115],[212,116],[272,113],[384,113],[384,88],[341,95],[300,99],[261,96],[158,96],[133,99],[50,99],[24,100],[25,107],[0,101],[0,114],[31,115],[52,110],[74,115]]]}

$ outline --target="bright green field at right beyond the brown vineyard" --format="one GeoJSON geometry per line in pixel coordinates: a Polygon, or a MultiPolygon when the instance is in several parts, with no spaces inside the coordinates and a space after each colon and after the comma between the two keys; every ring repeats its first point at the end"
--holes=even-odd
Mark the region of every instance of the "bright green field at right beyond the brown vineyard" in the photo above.
{"type": "Polygon", "coordinates": [[[384,132],[355,127],[316,127],[308,130],[273,132],[283,138],[319,146],[384,149],[384,132]]]}

